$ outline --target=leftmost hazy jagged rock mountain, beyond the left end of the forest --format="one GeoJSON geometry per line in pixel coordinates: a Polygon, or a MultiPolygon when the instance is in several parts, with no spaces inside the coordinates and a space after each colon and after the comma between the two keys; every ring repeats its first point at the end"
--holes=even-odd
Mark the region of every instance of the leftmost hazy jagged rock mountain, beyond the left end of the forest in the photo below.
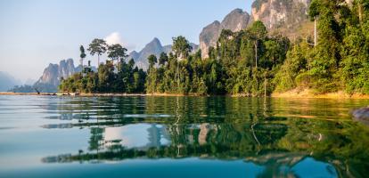
{"type": "Polygon", "coordinates": [[[81,70],[82,68],[80,66],[75,68],[72,59],[60,61],[59,64],[49,64],[44,70],[42,77],[35,83],[34,88],[40,92],[55,93],[58,90],[61,77],[70,77],[81,70]]]}

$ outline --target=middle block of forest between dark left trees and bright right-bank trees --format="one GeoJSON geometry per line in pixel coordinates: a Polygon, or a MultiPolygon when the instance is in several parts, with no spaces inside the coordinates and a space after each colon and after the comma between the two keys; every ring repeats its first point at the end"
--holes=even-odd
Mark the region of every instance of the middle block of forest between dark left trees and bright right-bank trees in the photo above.
{"type": "MultiPolygon", "coordinates": [[[[200,95],[264,95],[265,91],[267,94],[272,93],[274,86],[267,81],[272,80],[275,68],[283,63],[290,42],[281,36],[268,37],[266,33],[266,27],[260,21],[241,32],[223,30],[217,48],[209,49],[209,59],[201,59],[198,53],[185,59],[177,59],[180,55],[185,56],[178,49],[184,49],[183,46],[188,43],[185,38],[176,37],[173,45],[182,47],[176,48],[175,55],[169,54],[166,65],[163,65],[166,63],[164,60],[160,60],[158,68],[151,65],[146,82],[147,92],[200,95]],[[258,68],[254,68],[256,41],[258,68]]],[[[148,59],[149,63],[153,57],[148,59]]]]}

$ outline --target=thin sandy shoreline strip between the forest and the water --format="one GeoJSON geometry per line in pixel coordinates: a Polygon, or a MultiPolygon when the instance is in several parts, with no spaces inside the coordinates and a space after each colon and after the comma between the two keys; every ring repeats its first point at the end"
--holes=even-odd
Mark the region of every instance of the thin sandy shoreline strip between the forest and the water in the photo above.
{"type": "MultiPolygon", "coordinates": [[[[23,95],[23,96],[80,96],[80,97],[122,97],[122,96],[213,96],[213,95],[199,95],[199,94],[175,94],[175,93],[10,93],[10,92],[3,92],[0,95],[23,95]]],[[[219,95],[217,95],[219,96],[219,95]]],[[[245,98],[245,97],[254,97],[249,96],[247,94],[225,94],[220,95],[225,97],[234,97],[234,98],[245,98]]],[[[257,96],[255,96],[257,97],[257,96]]],[[[362,99],[362,100],[369,100],[369,95],[365,94],[348,94],[344,92],[337,92],[337,93],[323,93],[323,94],[315,94],[311,93],[310,91],[303,91],[303,92],[284,92],[284,93],[272,93],[269,98],[295,98],[295,99],[362,99]]],[[[259,97],[262,98],[262,97],[259,97]]]]}

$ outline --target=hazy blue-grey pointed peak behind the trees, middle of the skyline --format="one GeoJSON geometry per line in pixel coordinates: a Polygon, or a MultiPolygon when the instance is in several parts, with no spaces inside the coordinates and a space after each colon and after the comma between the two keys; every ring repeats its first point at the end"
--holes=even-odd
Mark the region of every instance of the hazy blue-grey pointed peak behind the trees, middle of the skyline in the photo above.
{"type": "MultiPolygon", "coordinates": [[[[199,45],[191,43],[191,46],[193,47],[193,52],[197,52],[199,49],[199,45]]],[[[149,44],[146,44],[143,47],[143,50],[140,52],[131,52],[129,53],[128,59],[134,59],[135,65],[143,70],[146,70],[149,68],[149,62],[147,61],[147,58],[154,54],[156,57],[160,57],[160,53],[171,53],[172,52],[172,45],[162,45],[160,43],[160,40],[158,38],[154,38],[149,44]]]]}

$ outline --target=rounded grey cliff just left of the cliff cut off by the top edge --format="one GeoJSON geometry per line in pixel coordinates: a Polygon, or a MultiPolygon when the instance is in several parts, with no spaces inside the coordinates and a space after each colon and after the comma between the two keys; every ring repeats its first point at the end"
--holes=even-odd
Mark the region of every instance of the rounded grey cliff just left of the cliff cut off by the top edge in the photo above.
{"type": "Polygon", "coordinates": [[[217,39],[223,29],[232,31],[240,31],[249,24],[250,15],[241,9],[235,9],[225,16],[222,22],[214,21],[207,27],[203,28],[200,34],[200,48],[202,58],[207,58],[209,47],[217,44],[217,39]]]}

